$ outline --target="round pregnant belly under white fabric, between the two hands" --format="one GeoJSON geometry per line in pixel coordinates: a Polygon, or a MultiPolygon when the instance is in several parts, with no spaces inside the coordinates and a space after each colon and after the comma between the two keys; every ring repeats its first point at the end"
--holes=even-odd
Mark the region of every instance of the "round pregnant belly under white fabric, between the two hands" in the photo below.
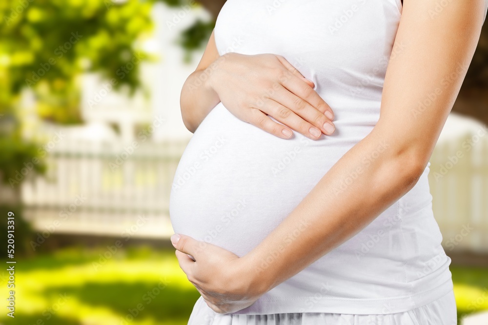
{"type": "Polygon", "coordinates": [[[245,255],[373,126],[335,124],[333,136],[313,141],[295,132],[285,140],[238,120],[219,103],[178,165],[170,196],[174,231],[245,255]]]}

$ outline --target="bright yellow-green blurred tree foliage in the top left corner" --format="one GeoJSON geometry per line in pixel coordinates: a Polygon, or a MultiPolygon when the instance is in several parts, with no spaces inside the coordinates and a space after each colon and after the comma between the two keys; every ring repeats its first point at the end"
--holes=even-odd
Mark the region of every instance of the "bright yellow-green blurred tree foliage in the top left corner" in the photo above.
{"type": "Polygon", "coordinates": [[[117,71],[138,53],[135,42],[151,30],[152,2],[127,0],[2,1],[0,75],[2,110],[20,91],[32,89],[41,117],[79,122],[77,77],[97,71],[117,86],[138,85],[138,65],[123,78],[117,71]]]}

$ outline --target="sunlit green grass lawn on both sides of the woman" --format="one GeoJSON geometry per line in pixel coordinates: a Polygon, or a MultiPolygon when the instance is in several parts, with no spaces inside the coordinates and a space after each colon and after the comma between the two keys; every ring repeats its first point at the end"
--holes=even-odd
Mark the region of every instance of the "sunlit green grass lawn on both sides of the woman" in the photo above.
{"type": "MultiPolygon", "coordinates": [[[[119,249],[110,255],[103,248],[71,248],[19,260],[16,319],[2,312],[0,324],[186,324],[199,293],[187,281],[173,250],[119,249]],[[108,259],[101,257],[104,253],[108,259]]],[[[488,309],[488,299],[483,298],[488,297],[488,269],[451,271],[458,314],[488,309]]],[[[0,276],[5,287],[5,273],[0,276]]],[[[1,299],[7,298],[6,289],[1,294],[1,299]]]]}

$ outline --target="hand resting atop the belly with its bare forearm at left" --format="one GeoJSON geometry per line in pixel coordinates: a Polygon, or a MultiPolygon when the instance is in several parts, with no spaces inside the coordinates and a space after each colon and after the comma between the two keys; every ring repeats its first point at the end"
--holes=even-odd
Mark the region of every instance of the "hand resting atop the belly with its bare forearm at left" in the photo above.
{"type": "Polygon", "coordinates": [[[240,120],[277,137],[291,138],[295,130],[316,140],[322,133],[332,134],[335,127],[332,109],[313,87],[312,81],[279,55],[219,56],[212,33],[197,69],[183,85],[183,122],[194,132],[222,102],[240,120]]]}

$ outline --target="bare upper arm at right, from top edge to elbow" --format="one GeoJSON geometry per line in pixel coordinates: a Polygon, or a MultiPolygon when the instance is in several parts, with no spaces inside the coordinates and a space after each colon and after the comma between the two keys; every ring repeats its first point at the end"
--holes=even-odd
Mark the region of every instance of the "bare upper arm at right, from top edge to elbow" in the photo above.
{"type": "Polygon", "coordinates": [[[485,0],[404,2],[375,132],[426,165],[476,49],[485,0]]]}

